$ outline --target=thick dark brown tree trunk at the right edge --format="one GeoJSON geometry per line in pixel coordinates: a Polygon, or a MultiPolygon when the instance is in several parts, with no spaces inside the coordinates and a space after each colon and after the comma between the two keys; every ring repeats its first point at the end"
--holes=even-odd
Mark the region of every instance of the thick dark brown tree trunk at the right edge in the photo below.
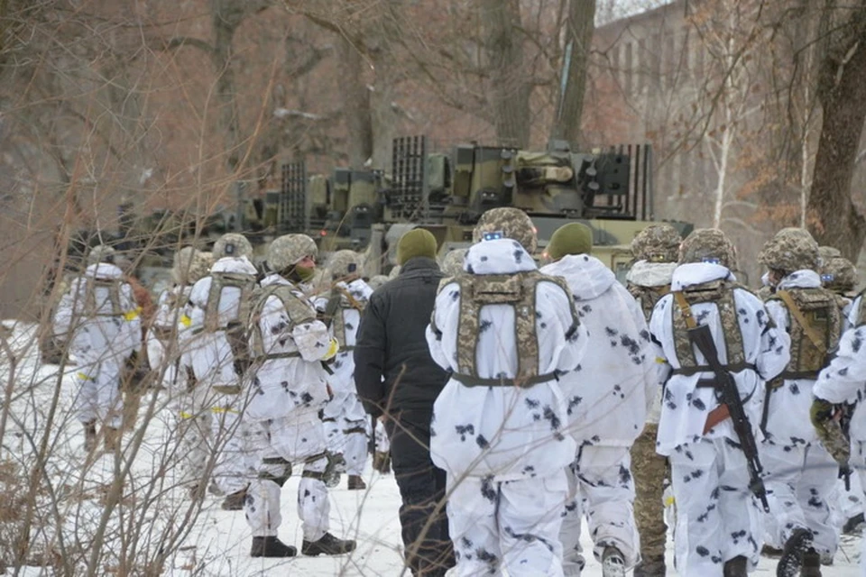
{"type": "Polygon", "coordinates": [[[820,244],[857,261],[866,219],[852,203],[852,175],[866,121],[866,2],[854,9],[819,71],[823,124],[815,154],[809,228],[820,244]]]}

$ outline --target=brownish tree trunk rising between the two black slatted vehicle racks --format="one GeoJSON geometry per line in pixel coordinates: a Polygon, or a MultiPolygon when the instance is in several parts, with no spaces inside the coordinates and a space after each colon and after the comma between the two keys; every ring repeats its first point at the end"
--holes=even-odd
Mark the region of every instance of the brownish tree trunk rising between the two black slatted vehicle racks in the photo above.
{"type": "Polygon", "coordinates": [[[340,96],[343,100],[343,120],[348,137],[346,142],[349,166],[360,169],[373,156],[373,120],[370,114],[370,89],[364,79],[366,63],[358,47],[345,36],[337,39],[340,96]]]}

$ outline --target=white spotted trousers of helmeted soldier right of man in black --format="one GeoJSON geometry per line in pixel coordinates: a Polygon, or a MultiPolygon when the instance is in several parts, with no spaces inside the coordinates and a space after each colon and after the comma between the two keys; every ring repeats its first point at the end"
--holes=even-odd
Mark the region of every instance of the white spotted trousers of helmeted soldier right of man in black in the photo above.
{"type": "Polygon", "coordinates": [[[456,575],[561,576],[565,472],[525,481],[448,476],[456,575]]]}

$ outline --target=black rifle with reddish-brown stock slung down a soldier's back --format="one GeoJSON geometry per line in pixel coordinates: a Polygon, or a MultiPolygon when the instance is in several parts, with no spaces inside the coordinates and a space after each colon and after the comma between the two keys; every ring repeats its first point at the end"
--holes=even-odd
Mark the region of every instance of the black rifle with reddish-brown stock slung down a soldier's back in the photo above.
{"type": "Polygon", "coordinates": [[[715,373],[716,394],[719,402],[728,408],[733,422],[733,430],[737,434],[737,438],[740,439],[742,453],[746,456],[746,464],[749,468],[749,490],[760,499],[764,511],[769,513],[767,490],[764,487],[764,481],[760,478],[760,473],[763,472],[764,468],[758,458],[758,444],[755,443],[755,435],[751,432],[749,417],[746,417],[746,412],[742,408],[740,389],[737,388],[737,383],[733,380],[731,373],[725,371],[722,363],[719,362],[719,353],[715,348],[713,334],[710,333],[709,326],[697,325],[695,328],[688,329],[688,339],[704,355],[706,363],[715,373]]]}

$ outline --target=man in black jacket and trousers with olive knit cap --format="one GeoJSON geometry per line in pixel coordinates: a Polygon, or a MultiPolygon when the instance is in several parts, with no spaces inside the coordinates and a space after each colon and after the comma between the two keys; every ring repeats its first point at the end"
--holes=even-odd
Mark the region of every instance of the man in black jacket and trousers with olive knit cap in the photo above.
{"type": "Polygon", "coordinates": [[[433,401],[447,373],[430,358],[425,330],[442,272],[436,239],[414,229],[397,245],[400,275],[373,292],[355,344],[355,384],[364,408],[384,415],[406,562],[412,574],[440,577],[454,565],[445,514],[445,472],[430,460],[433,401]],[[437,515],[433,515],[438,507],[437,515]]]}

